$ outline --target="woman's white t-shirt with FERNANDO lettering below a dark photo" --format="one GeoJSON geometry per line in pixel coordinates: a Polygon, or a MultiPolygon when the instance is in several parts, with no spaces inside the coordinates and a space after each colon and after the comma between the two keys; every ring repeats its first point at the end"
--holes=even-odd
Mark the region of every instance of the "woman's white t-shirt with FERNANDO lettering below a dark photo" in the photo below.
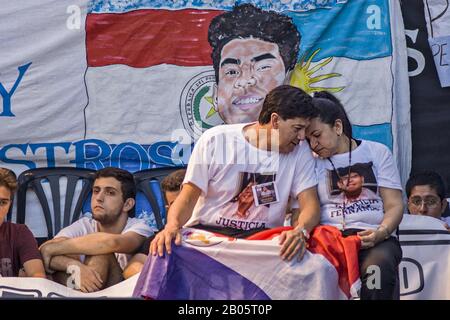
{"type": "MultiPolygon", "coordinates": [[[[350,154],[342,153],[331,157],[336,170],[349,166],[350,154]]],[[[383,144],[362,140],[356,149],[352,150],[351,164],[372,162],[372,171],[376,181],[365,181],[362,194],[354,200],[344,196],[331,194],[331,173],[334,170],[327,159],[317,159],[316,173],[319,179],[319,200],[321,206],[320,223],[332,225],[339,229],[376,229],[383,220],[383,200],[379,187],[402,190],[400,175],[391,151],[383,144]],[[376,189],[373,192],[368,187],[376,189]],[[369,192],[370,191],[370,192],[369,192]],[[344,216],[342,214],[345,207],[344,216]]]]}

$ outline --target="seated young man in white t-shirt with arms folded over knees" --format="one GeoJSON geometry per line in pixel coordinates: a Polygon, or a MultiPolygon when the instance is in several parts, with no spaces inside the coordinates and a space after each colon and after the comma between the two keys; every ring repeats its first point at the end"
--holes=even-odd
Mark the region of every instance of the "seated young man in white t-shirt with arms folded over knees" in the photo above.
{"type": "Polygon", "coordinates": [[[129,258],[152,234],[143,220],[132,218],[135,196],[134,178],[128,171],[97,171],[92,218],[81,218],[41,246],[45,268],[56,272],[55,281],[93,292],[123,280],[129,258]]]}

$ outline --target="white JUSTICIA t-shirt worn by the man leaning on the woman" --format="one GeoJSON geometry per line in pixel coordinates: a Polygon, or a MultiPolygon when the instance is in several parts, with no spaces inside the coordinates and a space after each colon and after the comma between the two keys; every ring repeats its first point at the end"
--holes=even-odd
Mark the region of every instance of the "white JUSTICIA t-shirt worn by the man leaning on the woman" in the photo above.
{"type": "Polygon", "coordinates": [[[194,184],[202,193],[186,226],[240,230],[283,226],[289,196],[296,198],[317,185],[315,160],[306,141],[288,154],[270,152],[245,139],[246,125],[250,124],[216,126],[197,141],[183,183],[194,184]],[[256,206],[251,186],[271,181],[278,201],[256,206]],[[239,211],[238,199],[243,197],[250,200],[239,211]]]}

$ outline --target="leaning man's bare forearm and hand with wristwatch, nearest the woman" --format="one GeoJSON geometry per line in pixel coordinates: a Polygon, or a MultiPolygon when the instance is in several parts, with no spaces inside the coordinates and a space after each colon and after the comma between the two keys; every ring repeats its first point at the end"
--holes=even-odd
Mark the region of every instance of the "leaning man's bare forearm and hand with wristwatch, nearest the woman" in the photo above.
{"type": "Polygon", "coordinates": [[[283,260],[291,260],[299,251],[299,260],[306,250],[306,239],[300,231],[302,228],[310,233],[320,221],[320,204],[317,197],[317,188],[311,187],[297,196],[300,210],[293,211],[293,230],[284,231],[280,236],[282,245],[280,255],[283,260]]]}

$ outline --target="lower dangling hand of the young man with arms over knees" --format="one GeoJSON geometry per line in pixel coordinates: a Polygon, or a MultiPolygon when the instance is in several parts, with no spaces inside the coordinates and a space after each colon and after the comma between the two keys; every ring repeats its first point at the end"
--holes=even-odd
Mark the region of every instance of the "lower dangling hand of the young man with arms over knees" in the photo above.
{"type": "Polygon", "coordinates": [[[100,274],[90,266],[82,263],[70,265],[70,272],[68,273],[71,274],[68,281],[73,281],[67,284],[68,287],[84,293],[99,291],[103,288],[103,280],[100,274]]]}

